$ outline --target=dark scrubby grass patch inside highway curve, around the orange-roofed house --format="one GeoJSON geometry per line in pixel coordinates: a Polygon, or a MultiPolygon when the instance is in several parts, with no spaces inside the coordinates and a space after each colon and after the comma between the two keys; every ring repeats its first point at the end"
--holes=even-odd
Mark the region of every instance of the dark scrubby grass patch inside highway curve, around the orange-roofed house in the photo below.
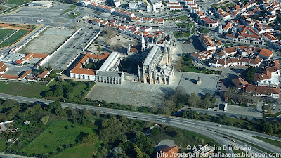
{"type": "Polygon", "coordinates": [[[173,126],[167,126],[165,129],[161,129],[160,133],[157,136],[150,136],[150,139],[155,144],[165,139],[174,140],[178,147],[181,145],[182,151],[185,151],[188,145],[193,146],[209,144],[212,147],[214,145],[219,146],[218,143],[214,142],[214,140],[211,140],[211,138],[192,131],[178,129],[173,126]],[[204,139],[204,143],[202,143],[202,141],[196,140],[195,138],[204,139]]]}

